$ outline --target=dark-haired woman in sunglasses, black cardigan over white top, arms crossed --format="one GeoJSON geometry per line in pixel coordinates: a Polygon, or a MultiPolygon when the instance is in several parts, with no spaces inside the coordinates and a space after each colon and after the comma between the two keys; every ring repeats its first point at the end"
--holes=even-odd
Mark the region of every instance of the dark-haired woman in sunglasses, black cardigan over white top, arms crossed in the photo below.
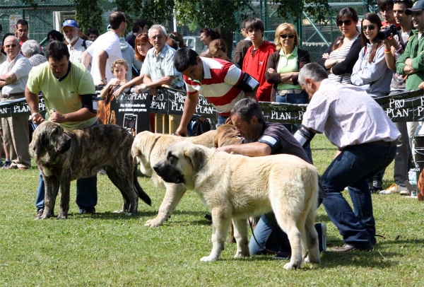
{"type": "Polygon", "coordinates": [[[359,18],[355,9],[348,7],[338,12],[336,23],[341,32],[326,49],[317,63],[329,71],[329,80],[351,83],[351,73],[360,51],[360,33],[356,28],[359,18]]]}

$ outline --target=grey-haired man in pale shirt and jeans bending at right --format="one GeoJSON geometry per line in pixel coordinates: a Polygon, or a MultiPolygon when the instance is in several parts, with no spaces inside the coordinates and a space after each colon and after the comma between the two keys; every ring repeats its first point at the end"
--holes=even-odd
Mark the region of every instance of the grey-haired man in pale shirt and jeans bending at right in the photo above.
{"type": "Polygon", "coordinates": [[[370,95],[358,87],[331,82],[322,66],[311,63],[299,74],[300,86],[310,96],[302,126],[295,138],[303,146],[316,133],[337,146],[338,154],[321,177],[324,208],[343,235],[334,252],[372,250],[375,220],[367,178],[391,163],[401,134],[370,95]],[[348,187],[353,209],[341,192],[348,187]]]}

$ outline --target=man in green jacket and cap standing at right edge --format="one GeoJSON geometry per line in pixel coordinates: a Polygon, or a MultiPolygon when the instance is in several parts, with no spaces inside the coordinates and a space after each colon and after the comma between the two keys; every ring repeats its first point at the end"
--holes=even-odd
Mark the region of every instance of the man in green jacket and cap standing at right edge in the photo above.
{"type": "MultiPolygon", "coordinates": [[[[404,54],[396,61],[396,72],[408,76],[405,82],[406,90],[418,90],[418,86],[424,81],[424,0],[417,1],[412,8],[407,8],[405,14],[412,15],[412,24],[416,30],[412,30],[413,35],[409,38],[404,54]]],[[[407,124],[408,131],[415,134],[418,123],[407,124]]],[[[415,158],[415,148],[411,148],[415,158]]]]}

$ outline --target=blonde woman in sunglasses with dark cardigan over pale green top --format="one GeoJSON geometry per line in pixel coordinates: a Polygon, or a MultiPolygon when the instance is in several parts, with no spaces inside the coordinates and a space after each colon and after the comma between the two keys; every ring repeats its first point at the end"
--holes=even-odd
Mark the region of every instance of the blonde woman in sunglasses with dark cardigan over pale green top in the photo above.
{"type": "MultiPolygon", "coordinates": [[[[311,62],[309,52],[300,49],[298,32],[290,23],[283,23],[276,28],[276,52],[268,58],[265,78],[272,83],[271,102],[288,102],[290,104],[307,104],[308,95],[298,83],[299,71],[311,62]]],[[[284,124],[293,134],[300,124],[284,124]]],[[[305,148],[312,161],[310,146],[305,148]]]]}

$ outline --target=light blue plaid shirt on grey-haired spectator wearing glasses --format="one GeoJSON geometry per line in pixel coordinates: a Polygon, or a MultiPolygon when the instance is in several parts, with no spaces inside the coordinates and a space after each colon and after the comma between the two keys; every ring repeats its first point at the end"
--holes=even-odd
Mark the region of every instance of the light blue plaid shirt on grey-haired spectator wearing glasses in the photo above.
{"type": "Polygon", "coordinates": [[[143,74],[150,76],[152,81],[158,81],[165,76],[172,76],[170,88],[179,89],[184,87],[182,74],[174,66],[175,49],[165,44],[158,57],[156,57],[155,53],[156,50],[154,48],[148,50],[141,68],[143,74]]]}

